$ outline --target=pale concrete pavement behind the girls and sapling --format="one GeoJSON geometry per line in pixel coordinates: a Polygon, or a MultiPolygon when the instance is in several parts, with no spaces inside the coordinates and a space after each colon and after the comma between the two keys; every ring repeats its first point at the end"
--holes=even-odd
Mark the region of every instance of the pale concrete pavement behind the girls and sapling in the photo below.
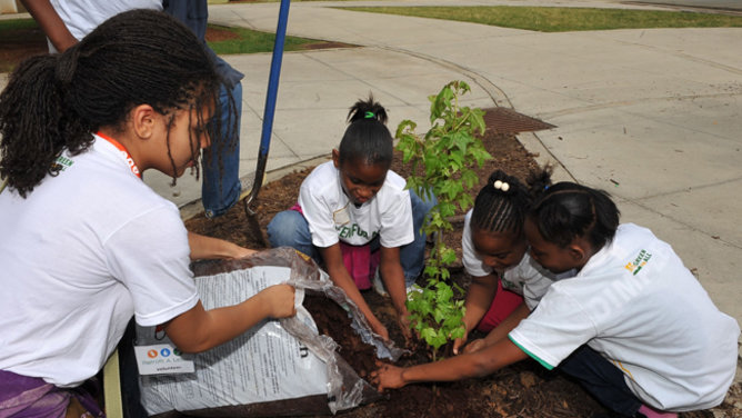
{"type": "MultiPolygon", "coordinates": [[[[622,221],[670,242],[716,305],[742,320],[742,29],[539,33],[330,8],[423,3],[648,8],[294,3],[289,34],[363,48],[284,54],[269,170],[327,156],[342,136],[348,107],[369,92],[390,109],[393,129],[402,119],[424,125],[427,97],[462,79],[473,88],[468,104],[510,107],[558,126],[519,139],[541,162],[559,165],[558,179],[610,191],[622,221]]],[[[210,16],[214,23],[273,31],[278,4],[214,6],[210,16]]],[[[251,178],[270,54],[227,59],[247,74],[242,167],[251,178]]]]}

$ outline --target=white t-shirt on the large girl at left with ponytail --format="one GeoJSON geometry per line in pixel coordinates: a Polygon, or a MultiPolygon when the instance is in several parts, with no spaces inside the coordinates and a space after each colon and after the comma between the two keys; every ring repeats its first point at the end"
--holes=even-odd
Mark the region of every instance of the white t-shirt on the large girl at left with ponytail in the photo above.
{"type": "Polygon", "coordinates": [[[134,315],[163,324],[198,302],[178,208],[97,137],[22,199],[0,193],[0,369],[76,386],[134,315]]]}

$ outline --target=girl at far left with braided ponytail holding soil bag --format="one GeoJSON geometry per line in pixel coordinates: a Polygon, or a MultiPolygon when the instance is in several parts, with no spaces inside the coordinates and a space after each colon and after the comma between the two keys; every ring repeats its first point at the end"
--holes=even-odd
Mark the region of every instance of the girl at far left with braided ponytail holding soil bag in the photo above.
{"type": "Polygon", "coordinates": [[[154,11],[119,14],[59,56],[33,57],[0,94],[0,415],[100,415],[79,386],[132,315],[182,351],[293,315],[270,287],[205,311],[189,262],[252,251],[188,233],[141,181],[198,162],[220,79],[191,31],[154,11]]]}

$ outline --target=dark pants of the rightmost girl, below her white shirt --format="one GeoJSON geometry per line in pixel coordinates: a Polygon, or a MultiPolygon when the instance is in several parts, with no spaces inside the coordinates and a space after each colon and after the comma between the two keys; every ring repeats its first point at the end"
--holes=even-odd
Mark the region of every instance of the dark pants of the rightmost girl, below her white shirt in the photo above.
{"type": "Polygon", "coordinates": [[[578,379],[590,395],[614,412],[633,417],[642,405],[626,386],[623,372],[588,346],[572,352],[559,369],[578,379]]]}

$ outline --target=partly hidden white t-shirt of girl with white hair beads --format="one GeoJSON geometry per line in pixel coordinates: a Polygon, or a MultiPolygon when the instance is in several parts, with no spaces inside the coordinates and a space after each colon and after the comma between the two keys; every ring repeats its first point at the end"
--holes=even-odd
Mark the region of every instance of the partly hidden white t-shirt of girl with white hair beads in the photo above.
{"type": "MultiPolygon", "coordinates": [[[[477,252],[471,237],[472,213],[473,209],[470,209],[464,217],[464,229],[461,233],[462,261],[469,275],[473,277],[489,276],[493,272],[492,268],[485,265],[484,259],[477,252]]],[[[500,281],[502,281],[504,289],[522,295],[525,305],[530,310],[533,310],[547,293],[551,283],[560,278],[573,275],[574,271],[554,275],[541,267],[525,252],[518,265],[503,272],[500,281]]]]}

